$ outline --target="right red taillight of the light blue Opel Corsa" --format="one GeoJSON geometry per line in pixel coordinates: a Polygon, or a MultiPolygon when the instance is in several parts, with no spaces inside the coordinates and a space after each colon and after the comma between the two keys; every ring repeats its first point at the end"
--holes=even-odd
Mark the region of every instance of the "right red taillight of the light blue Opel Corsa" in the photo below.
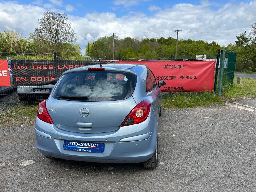
{"type": "Polygon", "coordinates": [[[124,119],[121,127],[141,123],[148,117],[150,111],[150,102],[147,100],[141,101],[136,105],[129,115],[124,119]]]}

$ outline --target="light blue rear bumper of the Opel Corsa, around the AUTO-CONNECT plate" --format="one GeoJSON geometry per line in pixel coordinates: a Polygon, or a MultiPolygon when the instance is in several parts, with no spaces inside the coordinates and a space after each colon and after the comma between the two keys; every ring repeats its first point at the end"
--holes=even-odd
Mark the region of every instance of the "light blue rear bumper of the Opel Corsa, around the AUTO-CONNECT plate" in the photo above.
{"type": "Polygon", "coordinates": [[[60,130],[54,124],[36,118],[36,148],[44,155],[67,160],[139,163],[150,159],[155,152],[156,125],[148,117],[140,124],[120,127],[114,132],[83,134],[60,130]],[[124,138],[133,141],[120,142],[124,138]],[[105,151],[104,153],[67,151],[63,149],[64,140],[104,143],[105,151]]]}

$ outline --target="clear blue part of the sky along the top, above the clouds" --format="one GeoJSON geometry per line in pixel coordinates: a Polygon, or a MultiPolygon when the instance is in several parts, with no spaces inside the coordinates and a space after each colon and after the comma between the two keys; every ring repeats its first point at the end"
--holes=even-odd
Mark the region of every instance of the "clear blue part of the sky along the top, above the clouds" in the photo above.
{"type": "MultiPolygon", "coordinates": [[[[92,12],[113,12],[117,17],[122,17],[127,12],[142,12],[148,16],[153,15],[161,9],[171,8],[175,4],[188,3],[200,5],[201,1],[196,0],[112,0],[112,1],[84,1],[84,0],[23,0],[17,1],[19,4],[34,4],[43,8],[57,8],[64,12],[72,12],[72,15],[84,17],[85,13],[92,12]],[[67,5],[71,5],[73,9],[66,9],[67,5]],[[151,7],[151,9],[150,9],[151,7]],[[71,11],[72,10],[72,11],[71,11]]],[[[218,9],[223,1],[215,0],[212,2],[211,8],[218,9]]],[[[229,1],[225,1],[227,3],[229,1]]]]}

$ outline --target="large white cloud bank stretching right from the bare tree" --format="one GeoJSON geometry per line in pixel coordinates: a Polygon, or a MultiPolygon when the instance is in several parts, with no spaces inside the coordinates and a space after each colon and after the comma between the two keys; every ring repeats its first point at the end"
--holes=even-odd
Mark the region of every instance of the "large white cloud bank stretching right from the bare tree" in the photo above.
{"type": "Polygon", "coordinates": [[[176,29],[183,30],[179,33],[179,39],[216,41],[220,45],[227,45],[234,43],[236,35],[249,30],[250,25],[256,20],[254,11],[256,1],[226,4],[218,10],[212,10],[205,4],[206,2],[201,5],[176,4],[171,8],[158,11],[152,17],[136,14],[136,12],[129,12],[123,17],[116,17],[113,13],[95,12],[86,14],[84,18],[69,18],[76,34],[79,34],[80,45],[85,44],[89,39],[92,41],[98,37],[110,36],[113,32],[119,32],[120,38],[127,36],[160,38],[163,33],[172,33],[164,35],[165,38],[168,36],[176,38],[176,32],[174,32],[176,29]]]}

